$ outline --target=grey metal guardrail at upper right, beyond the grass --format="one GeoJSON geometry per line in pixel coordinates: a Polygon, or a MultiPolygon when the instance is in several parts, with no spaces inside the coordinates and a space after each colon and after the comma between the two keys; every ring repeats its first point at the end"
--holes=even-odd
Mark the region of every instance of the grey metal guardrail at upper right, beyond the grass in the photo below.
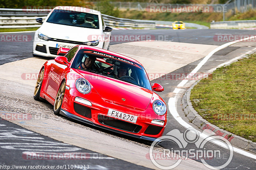
{"type": "Polygon", "coordinates": [[[228,28],[250,28],[256,27],[256,20],[238,20],[238,21],[218,21],[211,22],[211,29],[228,29],[228,28]]]}

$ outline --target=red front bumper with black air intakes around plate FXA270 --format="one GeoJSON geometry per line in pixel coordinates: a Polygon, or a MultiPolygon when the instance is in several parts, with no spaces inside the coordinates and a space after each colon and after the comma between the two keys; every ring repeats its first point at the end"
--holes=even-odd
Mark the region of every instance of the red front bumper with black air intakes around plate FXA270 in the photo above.
{"type": "Polygon", "coordinates": [[[61,109],[62,115],[68,116],[72,119],[150,141],[161,137],[167,124],[167,115],[156,115],[153,108],[147,108],[146,110],[127,108],[114,103],[106,102],[94,92],[83,95],[78,92],[76,88],[65,90],[61,109]],[[92,103],[92,105],[88,106],[83,103],[79,103],[78,101],[75,101],[76,97],[88,100],[92,103]],[[118,119],[116,117],[108,116],[109,109],[138,116],[137,122],[133,123],[118,119]],[[164,125],[154,124],[152,123],[152,120],[162,120],[164,121],[164,125]]]}

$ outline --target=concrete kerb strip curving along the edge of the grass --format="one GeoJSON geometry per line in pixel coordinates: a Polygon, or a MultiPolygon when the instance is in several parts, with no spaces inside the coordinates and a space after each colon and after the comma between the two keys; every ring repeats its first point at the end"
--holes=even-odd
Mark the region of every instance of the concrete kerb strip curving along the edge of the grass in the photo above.
{"type": "MultiPolygon", "coordinates": [[[[246,57],[246,55],[241,58],[244,58],[244,57],[246,57]]],[[[236,62],[236,61],[232,61],[232,62],[228,63],[227,65],[229,65],[233,62],[236,62]]],[[[227,66],[227,65],[225,65],[225,66],[227,66]]],[[[193,85],[191,85],[188,88],[188,90],[185,91],[185,93],[183,94],[183,96],[181,98],[182,108],[183,108],[184,114],[188,118],[189,122],[193,123],[201,130],[204,130],[204,129],[212,130],[217,135],[227,138],[229,140],[229,142],[234,146],[237,146],[244,150],[256,153],[256,143],[255,142],[252,142],[251,140],[237,136],[233,133],[230,133],[224,129],[221,129],[221,128],[211,124],[210,122],[206,121],[201,115],[199,115],[196,112],[196,110],[193,108],[192,103],[190,101],[190,94],[191,94],[191,90],[194,88],[194,86],[200,80],[197,80],[197,81],[193,80],[194,82],[193,81],[190,82],[190,83],[193,83],[193,85]]]]}

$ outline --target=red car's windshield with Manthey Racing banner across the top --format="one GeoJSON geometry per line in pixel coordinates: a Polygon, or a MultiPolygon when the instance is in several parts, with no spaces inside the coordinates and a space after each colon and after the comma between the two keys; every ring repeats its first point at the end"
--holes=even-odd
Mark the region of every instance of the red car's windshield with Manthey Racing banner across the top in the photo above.
{"type": "Polygon", "coordinates": [[[97,53],[84,49],[79,50],[71,68],[90,71],[152,90],[147,73],[141,65],[120,57],[112,55],[105,57],[108,55],[97,53]],[[95,61],[95,59],[97,60],[95,61]],[[120,59],[124,62],[120,61],[120,59]],[[93,64],[90,65],[88,64],[89,62],[93,62],[93,64]]]}

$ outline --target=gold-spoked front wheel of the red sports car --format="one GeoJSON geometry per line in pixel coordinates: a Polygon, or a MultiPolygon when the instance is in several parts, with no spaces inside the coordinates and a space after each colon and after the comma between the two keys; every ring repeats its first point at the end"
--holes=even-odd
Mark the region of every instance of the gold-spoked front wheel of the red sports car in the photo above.
{"type": "Polygon", "coordinates": [[[62,106],[62,101],[64,98],[64,94],[65,94],[65,89],[66,89],[66,82],[63,81],[58,89],[55,101],[54,101],[54,105],[53,105],[53,113],[55,115],[60,115],[60,109],[62,106]]]}

